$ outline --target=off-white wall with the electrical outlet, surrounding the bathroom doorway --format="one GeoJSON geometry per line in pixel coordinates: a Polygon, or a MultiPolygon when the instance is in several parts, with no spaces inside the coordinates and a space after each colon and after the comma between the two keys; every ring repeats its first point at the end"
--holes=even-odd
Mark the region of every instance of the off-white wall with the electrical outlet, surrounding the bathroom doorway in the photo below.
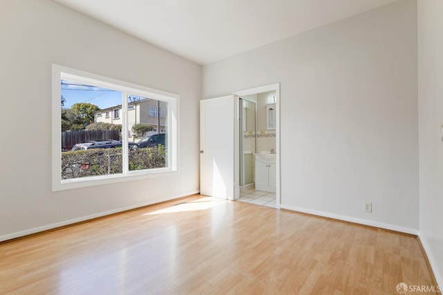
{"type": "Polygon", "coordinates": [[[416,13],[399,1],[204,66],[204,98],[281,83],[283,208],[417,233],[416,13]]]}

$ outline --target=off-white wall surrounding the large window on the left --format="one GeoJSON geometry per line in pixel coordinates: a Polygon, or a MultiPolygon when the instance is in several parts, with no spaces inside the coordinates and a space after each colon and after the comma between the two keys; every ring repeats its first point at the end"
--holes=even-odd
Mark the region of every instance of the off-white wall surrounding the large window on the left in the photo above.
{"type": "Polygon", "coordinates": [[[50,0],[2,0],[0,42],[0,240],[199,190],[200,66],[50,0]],[[179,94],[179,172],[52,193],[53,63],[179,94]]]}

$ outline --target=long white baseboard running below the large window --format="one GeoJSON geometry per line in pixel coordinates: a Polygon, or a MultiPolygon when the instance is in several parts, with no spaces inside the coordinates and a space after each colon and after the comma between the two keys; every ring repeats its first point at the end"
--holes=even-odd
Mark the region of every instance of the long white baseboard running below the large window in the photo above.
{"type": "Polygon", "coordinates": [[[60,227],[60,226],[65,226],[65,225],[69,225],[69,224],[75,224],[77,222],[83,222],[85,220],[91,220],[91,219],[97,218],[97,217],[102,217],[102,216],[111,215],[111,214],[114,214],[114,213],[128,211],[128,210],[135,209],[135,208],[140,208],[140,207],[143,207],[143,206],[148,206],[148,205],[157,204],[157,203],[161,203],[161,202],[165,202],[165,201],[170,201],[172,199],[178,199],[180,197],[186,197],[188,195],[195,195],[195,194],[198,194],[198,193],[200,193],[200,191],[199,190],[195,190],[193,192],[186,193],[186,194],[183,194],[183,195],[176,195],[176,196],[173,196],[173,197],[166,197],[166,198],[163,198],[163,199],[156,199],[155,201],[152,201],[152,202],[146,202],[146,203],[137,204],[137,205],[134,205],[134,206],[127,206],[127,207],[124,207],[124,208],[117,208],[117,209],[114,209],[114,210],[100,212],[100,213],[96,213],[96,214],[93,214],[93,215],[78,217],[78,218],[75,218],[73,220],[66,220],[64,222],[57,222],[57,223],[53,223],[53,224],[39,226],[39,227],[35,227],[34,229],[27,229],[26,231],[19,231],[17,233],[10,233],[8,235],[0,235],[0,242],[6,241],[6,240],[11,240],[11,239],[14,239],[14,238],[23,237],[24,235],[31,235],[33,233],[39,233],[41,231],[47,231],[48,229],[56,229],[57,227],[60,227]]]}

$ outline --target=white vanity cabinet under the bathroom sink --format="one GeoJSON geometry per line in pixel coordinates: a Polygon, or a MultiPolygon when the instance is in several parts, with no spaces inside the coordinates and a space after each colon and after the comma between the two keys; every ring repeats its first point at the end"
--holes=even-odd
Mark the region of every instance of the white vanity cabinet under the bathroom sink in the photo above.
{"type": "Polygon", "coordinates": [[[275,154],[255,154],[255,189],[275,193],[275,154]]]}

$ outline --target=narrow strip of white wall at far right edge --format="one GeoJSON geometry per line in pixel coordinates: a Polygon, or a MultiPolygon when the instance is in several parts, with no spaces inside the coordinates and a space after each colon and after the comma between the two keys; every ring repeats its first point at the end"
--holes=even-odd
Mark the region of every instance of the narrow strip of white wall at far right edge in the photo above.
{"type": "Polygon", "coordinates": [[[443,1],[418,1],[420,238],[443,287],[443,1]]]}

